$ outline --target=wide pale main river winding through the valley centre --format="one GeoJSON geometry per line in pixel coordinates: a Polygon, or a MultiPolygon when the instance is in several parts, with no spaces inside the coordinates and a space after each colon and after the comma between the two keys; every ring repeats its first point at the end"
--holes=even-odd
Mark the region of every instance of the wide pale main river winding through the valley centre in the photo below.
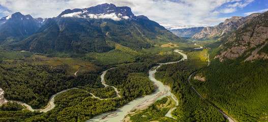
{"type": "MultiPolygon", "coordinates": [[[[183,55],[183,58],[181,60],[177,61],[177,62],[180,62],[182,60],[187,59],[187,55],[182,53],[181,50],[174,50],[174,52],[177,52],[177,53],[180,53],[181,55],[183,55]]],[[[166,96],[171,96],[172,99],[174,101],[176,101],[176,104],[178,104],[178,101],[177,101],[176,97],[170,92],[170,87],[165,86],[162,82],[156,80],[155,77],[154,77],[157,68],[161,67],[162,65],[173,64],[173,63],[177,63],[177,62],[159,64],[159,66],[153,67],[149,71],[148,78],[155,85],[158,86],[158,89],[156,89],[156,91],[154,93],[152,93],[150,95],[147,95],[147,96],[144,96],[142,98],[137,98],[137,99],[129,102],[125,106],[117,109],[114,112],[103,113],[103,114],[95,116],[92,119],[89,119],[87,121],[88,122],[93,122],[93,121],[121,121],[121,120],[124,119],[125,115],[127,115],[129,111],[131,111],[133,109],[138,109],[138,108],[141,108],[141,107],[144,107],[144,106],[148,106],[148,105],[154,103],[155,100],[161,99],[161,98],[166,97],[166,96]]]]}

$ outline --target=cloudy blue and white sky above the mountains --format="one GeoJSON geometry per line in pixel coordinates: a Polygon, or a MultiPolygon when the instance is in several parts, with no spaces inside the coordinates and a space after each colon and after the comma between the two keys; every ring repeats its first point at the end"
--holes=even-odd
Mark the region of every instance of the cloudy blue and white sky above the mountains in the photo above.
{"type": "Polygon", "coordinates": [[[145,15],[173,29],[214,26],[232,16],[268,11],[268,0],[1,0],[0,17],[21,12],[50,18],[66,9],[104,3],[128,6],[135,15],[145,15]]]}

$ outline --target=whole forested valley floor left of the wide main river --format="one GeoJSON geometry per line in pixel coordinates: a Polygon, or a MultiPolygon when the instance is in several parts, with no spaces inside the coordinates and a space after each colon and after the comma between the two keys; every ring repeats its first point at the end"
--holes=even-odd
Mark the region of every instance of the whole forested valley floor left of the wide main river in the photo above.
{"type": "Polygon", "coordinates": [[[33,53],[19,59],[12,59],[16,56],[6,57],[11,60],[4,60],[0,64],[0,73],[3,74],[0,76],[0,86],[3,86],[1,88],[8,100],[22,101],[33,108],[44,108],[53,94],[77,88],[57,95],[54,98],[55,108],[45,113],[25,110],[15,102],[4,104],[1,106],[4,111],[0,110],[0,118],[5,121],[85,121],[101,113],[114,111],[135,98],[155,91],[148,79],[148,70],[156,66],[156,63],[173,62],[182,58],[172,51],[143,53],[136,56],[133,63],[117,65],[105,75],[107,84],[120,90],[122,97],[114,98],[114,89],[104,87],[100,78],[101,72],[107,67],[114,67],[114,64],[94,63],[89,70],[84,70],[86,67],[79,64],[82,68],[74,76],[70,71],[73,71],[76,60],[73,62],[67,58],[42,57],[33,53]],[[55,65],[57,62],[61,63],[55,65]],[[108,99],[93,98],[88,92],[108,99]]]}

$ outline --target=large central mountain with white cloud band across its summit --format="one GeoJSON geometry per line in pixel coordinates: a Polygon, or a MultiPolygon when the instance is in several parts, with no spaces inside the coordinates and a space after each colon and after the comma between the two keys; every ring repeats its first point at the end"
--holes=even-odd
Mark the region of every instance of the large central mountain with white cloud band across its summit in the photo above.
{"type": "Polygon", "coordinates": [[[40,53],[87,53],[107,52],[115,44],[142,49],[182,41],[157,22],[135,16],[129,7],[102,4],[65,10],[48,19],[36,34],[9,47],[40,53]]]}

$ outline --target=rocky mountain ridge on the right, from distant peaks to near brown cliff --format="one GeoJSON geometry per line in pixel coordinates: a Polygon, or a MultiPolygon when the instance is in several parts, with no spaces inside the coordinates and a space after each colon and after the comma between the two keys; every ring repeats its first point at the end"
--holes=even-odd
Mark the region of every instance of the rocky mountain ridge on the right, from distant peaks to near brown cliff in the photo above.
{"type": "Polygon", "coordinates": [[[215,58],[222,62],[240,56],[245,61],[268,58],[268,12],[253,13],[247,17],[233,16],[216,26],[170,30],[173,34],[192,40],[221,42],[215,58]],[[193,35],[193,36],[192,36],[193,35]],[[191,37],[192,36],[192,37],[191,37]],[[261,50],[262,49],[262,50],[261,50]]]}

